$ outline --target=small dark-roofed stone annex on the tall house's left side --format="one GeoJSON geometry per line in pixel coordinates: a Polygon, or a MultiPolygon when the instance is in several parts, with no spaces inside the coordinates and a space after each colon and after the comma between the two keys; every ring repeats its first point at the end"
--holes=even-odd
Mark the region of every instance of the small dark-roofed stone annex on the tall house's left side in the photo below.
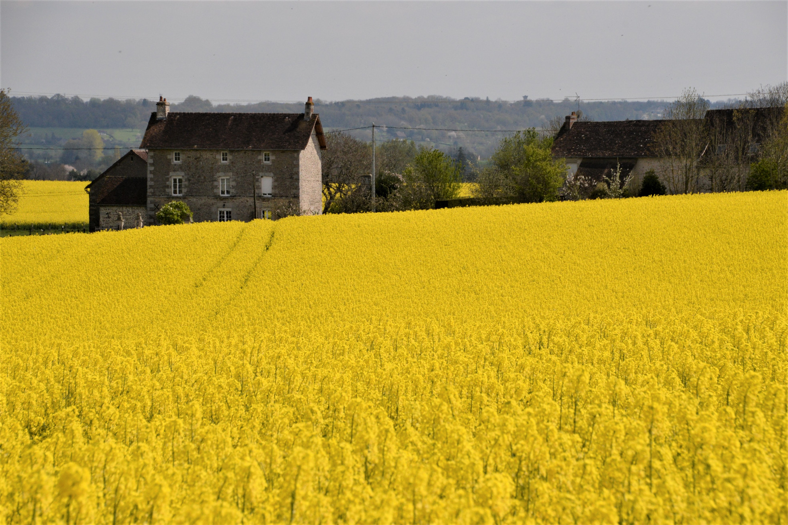
{"type": "Polygon", "coordinates": [[[121,213],[125,227],[134,227],[137,213],[147,218],[147,152],[131,150],[85,187],[90,231],[116,229],[121,213]]]}

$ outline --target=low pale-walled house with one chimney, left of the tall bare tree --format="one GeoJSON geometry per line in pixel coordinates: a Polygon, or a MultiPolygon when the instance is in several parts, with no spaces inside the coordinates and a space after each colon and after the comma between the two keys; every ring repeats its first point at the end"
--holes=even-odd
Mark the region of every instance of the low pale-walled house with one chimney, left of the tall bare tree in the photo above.
{"type": "Polygon", "coordinates": [[[569,176],[582,175],[593,183],[611,176],[618,165],[621,178],[632,175],[630,188],[639,188],[649,169],[658,169],[659,159],[652,151],[656,130],[664,120],[578,121],[572,112],[553,142],[554,157],[563,157],[569,176]]]}

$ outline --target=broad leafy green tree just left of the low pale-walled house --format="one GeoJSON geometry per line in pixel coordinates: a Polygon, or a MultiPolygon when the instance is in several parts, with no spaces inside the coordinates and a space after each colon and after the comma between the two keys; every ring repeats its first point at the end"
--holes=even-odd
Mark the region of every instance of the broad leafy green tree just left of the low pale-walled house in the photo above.
{"type": "Polygon", "coordinates": [[[552,157],[552,137],[533,128],[501,139],[492,153],[492,166],[482,170],[477,194],[490,198],[509,193],[524,202],[558,200],[567,164],[552,157]]]}

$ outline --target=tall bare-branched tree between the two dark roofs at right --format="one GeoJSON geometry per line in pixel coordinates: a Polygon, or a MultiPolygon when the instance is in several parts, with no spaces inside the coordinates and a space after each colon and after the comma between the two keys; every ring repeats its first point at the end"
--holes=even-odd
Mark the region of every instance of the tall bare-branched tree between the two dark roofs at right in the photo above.
{"type": "Polygon", "coordinates": [[[708,146],[704,122],[707,109],[707,100],[693,88],[686,89],[676,102],[667,106],[666,121],[654,135],[654,150],[661,159],[660,171],[673,194],[699,189],[701,155],[708,146]]]}

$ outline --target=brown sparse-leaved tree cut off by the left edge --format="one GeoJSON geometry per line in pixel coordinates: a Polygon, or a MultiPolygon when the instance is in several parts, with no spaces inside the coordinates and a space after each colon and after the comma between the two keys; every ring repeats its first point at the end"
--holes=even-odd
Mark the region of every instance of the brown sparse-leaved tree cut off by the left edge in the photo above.
{"type": "Polygon", "coordinates": [[[28,163],[16,149],[17,137],[27,131],[13,109],[6,90],[0,90],[0,215],[17,210],[21,180],[28,163]]]}

